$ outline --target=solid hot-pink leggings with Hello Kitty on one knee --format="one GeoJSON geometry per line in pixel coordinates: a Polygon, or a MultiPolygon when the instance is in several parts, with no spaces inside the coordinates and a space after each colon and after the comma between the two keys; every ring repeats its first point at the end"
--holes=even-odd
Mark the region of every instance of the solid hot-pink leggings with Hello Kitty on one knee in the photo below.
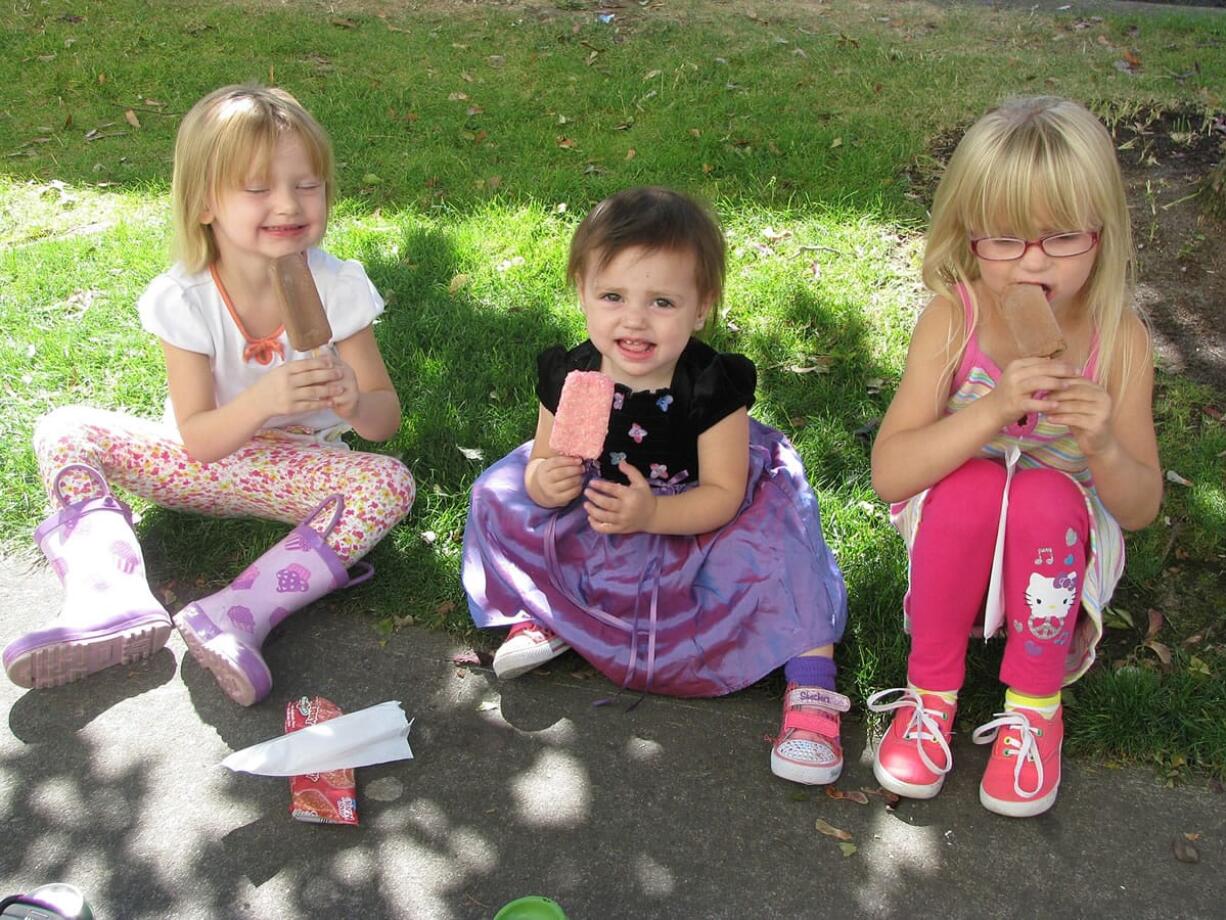
{"type": "MultiPolygon", "coordinates": [[[[928,493],[911,548],[911,656],[916,687],[956,691],[983,611],[1004,467],[970,460],[928,493]]],[[[1000,680],[1030,696],[1056,693],[1081,601],[1090,516],[1081,488],[1056,470],[1018,470],[1004,541],[1004,661],[1000,680]]]]}

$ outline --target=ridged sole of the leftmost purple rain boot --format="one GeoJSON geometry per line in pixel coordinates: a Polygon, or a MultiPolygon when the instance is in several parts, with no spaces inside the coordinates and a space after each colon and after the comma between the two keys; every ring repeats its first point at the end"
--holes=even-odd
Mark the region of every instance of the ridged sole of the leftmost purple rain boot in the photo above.
{"type": "Polygon", "coordinates": [[[169,617],[153,618],[119,631],[51,642],[5,660],[4,666],[18,687],[60,687],[114,665],[146,659],[166,645],[169,635],[169,617]]]}

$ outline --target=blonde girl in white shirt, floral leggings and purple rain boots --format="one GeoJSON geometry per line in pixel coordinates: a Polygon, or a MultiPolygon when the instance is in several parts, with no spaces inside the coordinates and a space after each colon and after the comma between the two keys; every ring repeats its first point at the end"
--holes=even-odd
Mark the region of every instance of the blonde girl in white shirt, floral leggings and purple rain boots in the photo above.
{"type": "Polygon", "coordinates": [[[413,503],[400,460],[351,451],[340,434],[386,440],[400,400],[371,324],[384,302],[356,261],[318,249],[333,195],[322,128],[288,93],[217,90],[184,118],[174,150],[175,265],[141,297],[162,341],[169,399],[161,422],[82,406],[34,433],[54,513],[36,531],[65,588],[58,619],[4,650],[9,677],[53,687],[145,657],[170,617],[150,591],[131,513],[110,485],[166,508],[295,524],[227,588],[175,626],[243,705],[272,678],[268,631],[357,579],[360,559],[413,503]],[[270,266],[304,254],[332,345],[289,343],[270,266]]]}

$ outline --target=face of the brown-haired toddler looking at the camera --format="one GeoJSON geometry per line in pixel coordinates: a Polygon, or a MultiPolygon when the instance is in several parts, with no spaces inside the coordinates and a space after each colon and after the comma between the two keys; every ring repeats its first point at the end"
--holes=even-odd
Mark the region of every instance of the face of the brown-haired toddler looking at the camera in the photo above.
{"type": "Polygon", "coordinates": [[[601,370],[631,390],[668,386],[711,309],[712,298],[699,294],[694,254],[629,247],[603,266],[596,256],[579,278],[579,299],[601,370]]]}

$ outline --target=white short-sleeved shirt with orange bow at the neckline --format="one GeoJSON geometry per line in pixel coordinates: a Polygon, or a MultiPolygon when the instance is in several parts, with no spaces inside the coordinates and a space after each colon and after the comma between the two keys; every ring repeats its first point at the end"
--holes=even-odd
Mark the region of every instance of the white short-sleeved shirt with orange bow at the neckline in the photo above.
{"type": "MultiPolygon", "coordinates": [[[[384,301],[360,263],[337,259],[322,249],[310,249],[306,264],[332,326],[333,342],[360,332],[383,313],[384,301]]],[[[282,363],[276,356],[270,364],[244,359],[243,351],[248,341],[226,309],[226,302],[222,301],[208,269],[189,275],[181,265],[175,264],[150,282],[136,308],[141,325],[153,335],[177,348],[208,356],[218,406],[233,400],[262,374],[282,363]]],[[[310,357],[305,352],[294,351],[284,331],[280,339],[286,361],[310,357]]],[[[177,427],[169,396],[166,402],[166,422],[177,427]]],[[[316,437],[329,440],[349,428],[331,410],[273,416],[264,424],[265,428],[287,426],[314,429],[318,432],[316,437]]]]}

